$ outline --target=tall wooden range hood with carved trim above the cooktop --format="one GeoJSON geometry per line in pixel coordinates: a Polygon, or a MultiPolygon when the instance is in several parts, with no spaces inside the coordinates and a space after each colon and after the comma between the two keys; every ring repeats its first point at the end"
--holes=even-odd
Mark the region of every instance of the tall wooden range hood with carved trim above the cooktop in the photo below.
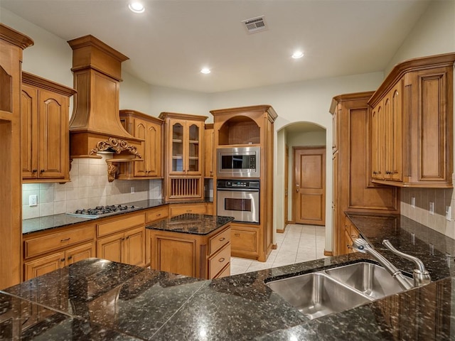
{"type": "Polygon", "coordinates": [[[130,135],[119,118],[122,62],[129,58],[90,35],[68,44],[73,49],[71,70],[77,90],[70,119],[70,158],[101,158],[97,152],[113,151],[108,164],[141,161],[144,140],[130,135]]]}

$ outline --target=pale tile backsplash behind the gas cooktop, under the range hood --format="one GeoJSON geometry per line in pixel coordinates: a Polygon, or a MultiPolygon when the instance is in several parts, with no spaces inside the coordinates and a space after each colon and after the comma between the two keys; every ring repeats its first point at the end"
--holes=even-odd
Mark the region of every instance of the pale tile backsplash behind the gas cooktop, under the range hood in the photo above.
{"type": "Polygon", "coordinates": [[[69,183],[23,184],[23,219],[57,215],[99,205],[161,199],[161,179],[114,180],[109,183],[106,157],[103,155],[101,159],[75,158],[71,164],[69,183]],[[36,206],[28,205],[30,195],[36,195],[36,206]]]}

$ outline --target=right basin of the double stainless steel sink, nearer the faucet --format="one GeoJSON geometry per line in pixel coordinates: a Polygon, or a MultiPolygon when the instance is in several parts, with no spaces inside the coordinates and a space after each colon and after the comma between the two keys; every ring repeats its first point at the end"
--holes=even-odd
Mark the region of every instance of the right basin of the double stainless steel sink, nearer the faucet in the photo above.
{"type": "Polygon", "coordinates": [[[367,262],[328,269],[326,274],[374,299],[404,291],[382,266],[367,262]]]}

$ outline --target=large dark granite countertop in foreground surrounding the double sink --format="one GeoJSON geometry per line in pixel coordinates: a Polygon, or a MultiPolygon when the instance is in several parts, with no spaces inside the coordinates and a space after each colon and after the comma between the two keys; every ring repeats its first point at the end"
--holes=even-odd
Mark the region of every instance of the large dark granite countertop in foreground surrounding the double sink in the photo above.
{"type": "MultiPolygon", "coordinates": [[[[414,238],[414,251],[406,251],[419,254],[433,283],[309,320],[266,283],[373,261],[368,255],[346,254],[213,280],[86,259],[1,291],[0,335],[36,340],[451,340],[453,240],[405,217],[392,218],[352,217],[373,245],[394,237],[400,249],[414,238]]],[[[392,262],[400,269],[410,266],[403,259],[392,262]]]]}

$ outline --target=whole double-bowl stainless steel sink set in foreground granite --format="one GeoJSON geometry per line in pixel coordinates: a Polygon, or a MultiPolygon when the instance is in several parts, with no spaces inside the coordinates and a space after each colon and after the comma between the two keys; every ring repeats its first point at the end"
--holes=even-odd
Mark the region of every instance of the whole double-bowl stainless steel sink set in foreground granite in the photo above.
{"type": "Polygon", "coordinates": [[[279,279],[267,286],[310,319],[405,290],[382,266],[368,262],[279,279]]]}

